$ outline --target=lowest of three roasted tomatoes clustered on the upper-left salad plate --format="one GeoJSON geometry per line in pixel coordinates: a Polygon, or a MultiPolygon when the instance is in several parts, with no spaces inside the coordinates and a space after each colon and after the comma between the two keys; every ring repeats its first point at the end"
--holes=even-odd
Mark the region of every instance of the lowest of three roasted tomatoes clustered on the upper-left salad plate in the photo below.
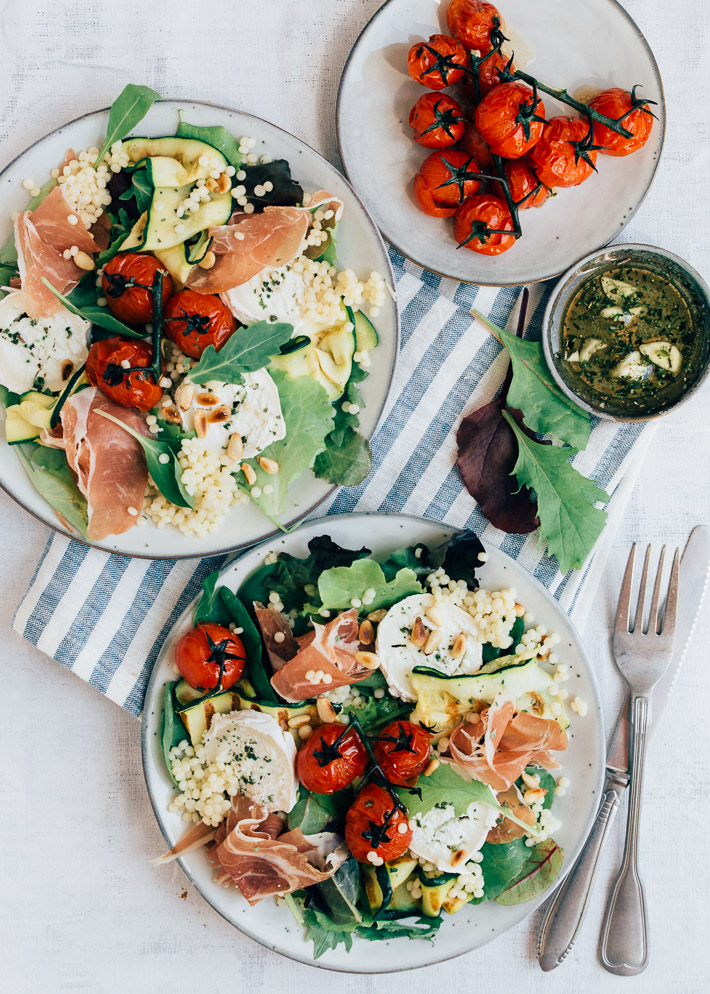
{"type": "Polygon", "coordinates": [[[162,388],[149,372],[152,361],[153,349],[148,342],[118,336],[105,338],[89,349],[86,375],[101,393],[122,407],[150,411],[163,396],[162,388]]]}

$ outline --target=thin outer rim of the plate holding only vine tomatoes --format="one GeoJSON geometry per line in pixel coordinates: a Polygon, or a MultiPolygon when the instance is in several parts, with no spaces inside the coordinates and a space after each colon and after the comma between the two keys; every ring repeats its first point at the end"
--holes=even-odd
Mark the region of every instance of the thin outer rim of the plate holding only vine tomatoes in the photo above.
{"type": "MultiPolygon", "coordinates": [[[[390,6],[390,4],[395,4],[395,3],[400,3],[400,2],[402,2],[402,0],[385,0],[385,2],[382,4],[382,6],[379,7],[375,11],[375,13],[372,15],[372,17],[368,20],[367,24],[365,24],[365,26],[363,27],[362,31],[360,32],[360,34],[355,39],[355,41],[353,43],[353,46],[352,46],[352,48],[350,49],[350,51],[348,53],[348,57],[345,60],[345,65],[343,66],[343,71],[342,71],[342,74],[340,76],[340,82],[338,83],[338,96],[337,96],[336,104],[335,104],[335,140],[336,140],[336,143],[337,143],[337,146],[338,146],[338,155],[340,156],[340,161],[343,164],[343,172],[345,174],[346,179],[348,180],[348,183],[351,186],[353,186],[353,182],[350,179],[350,175],[348,173],[347,162],[346,162],[345,156],[343,155],[343,148],[342,148],[341,141],[340,141],[340,132],[341,132],[341,103],[342,103],[342,99],[343,99],[343,90],[344,90],[344,87],[345,87],[345,84],[346,84],[346,76],[348,75],[348,70],[351,68],[350,64],[351,64],[351,61],[353,59],[353,56],[355,55],[355,51],[356,51],[358,45],[360,44],[360,42],[363,40],[365,32],[370,28],[370,25],[380,16],[380,14],[382,14],[384,12],[384,10],[387,7],[390,6]]],[[[663,115],[662,115],[662,121],[660,122],[661,123],[661,135],[660,135],[661,141],[660,141],[660,145],[658,146],[658,155],[656,157],[655,164],[653,166],[653,172],[651,173],[651,177],[650,177],[650,179],[649,179],[649,181],[648,181],[648,183],[646,185],[646,188],[644,189],[643,193],[641,194],[641,197],[639,198],[639,201],[636,204],[636,206],[634,207],[634,209],[629,214],[627,214],[624,218],[622,218],[622,223],[621,223],[620,227],[615,230],[614,234],[611,235],[611,237],[608,238],[601,245],[598,245],[595,249],[590,249],[590,252],[592,252],[592,251],[594,251],[594,252],[599,251],[599,250],[605,248],[607,245],[610,245],[614,241],[614,239],[616,239],[617,237],[619,237],[621,235],[621,232],[633,220],[633,218],[636,216],[636,214],[640,210],[641,205],[645,201],[645,199],[648,196],[648,193],[649,193],[651,187],[653,186],[653,184],[654,184],[654,182],[656,180],[656,175],[658,173],[658,167],[660,165],[661,158],[663,156],[663,148],[665,146],[667,117],[668,117],[668,115],[666,113],[666,94],[665,94],[665,89],[664,89],[664,86],[663,86],[663,78],[661,76],[661,71],[660,71],[660,69],[658,67],[658,62],[656,61],[656,57],[653,54],[653,49],[651,48],[650,44],[648,43],[648,40],[647,40],[646,36],[644,35],[643,31],[641,30],[641,28],[638,26],[638,24],[634,20],[634,18],[631,16],[631,14],[626,10],[626,8],[624,6],[622,6],[622,4],[620,3],[620,0],[603,0],[603,2],[609,4],[611,7],[615,7],[617,9],[617,11],[619,11],[621,13],[622,17],[624,17],[626,19],[626,21],[630,24],[630,26],[632,27],[632,29],[636,33],[636,36],[637,36],[638,40],[640,41],[642,47],[645,49],[645,51],[646,51],[646,53],[647,53],[647,55],[649,57],[649,61],[651,63],[651,67],[653,69],[654,76],[656,77],[656,82],[658,84],[659,92],[661,94],[661,109],[663,111],[663,115]]],[[[385,232],[384,228],[381,228],[380,230],[381,230],[383,238],[387,239],[387,242],[392,246],[392,248],[395,249],[395,251],[399,252],[400,255],[404,256],[405,259],[408,259],[409,262],[413,263],[415,266],[419,266],[420,269],[425,269],[427,272],[433,273],[435,276],[440,276],[442,279],[454,280],[455,282],[457,282],[457,283],[463,283],[466,286],[515,287],[515,286],[532,286],[532,285],[534,285],[536,283],[545,283],[547,280],[556,280],[556,279],[559,279],[559,277],[562,276],[562,275],[564,275],[564,273],[566,273],[568,269],[570,269],[572,266],[577,265],[581,259],[583,259],[586,255],[589,254],[589,252],[585,252],[583,255],[580,255],[579,257],[575,256],[575,258],[568,265],[566,265],[562,269],[560,269],[559,272],[550,273],[547,276],[540,276],[540,277],[538,277],[535,280],[525,280],[523,282],[520,282],[520,281],[515,282],[515,281],[512,281],[512,280],[506,280],[506,281],[504,281],[502,283],[489,283],[489,282],[486,282],[484,280],[467,280],[467,279],[462,279],[461,277],[459,277],[459,276],[453,276],[450,273],[439,272],[438,269],[434,269],[431,266],[427,265],[426,263],[420,262],[418,259],[415,259],[413,255],[411,255],[410,253],[405,252],[403,248],[401,248],[399,245],[395,244],[395,242],[393,242],[390,239],[390,237],[385,232]]]]}

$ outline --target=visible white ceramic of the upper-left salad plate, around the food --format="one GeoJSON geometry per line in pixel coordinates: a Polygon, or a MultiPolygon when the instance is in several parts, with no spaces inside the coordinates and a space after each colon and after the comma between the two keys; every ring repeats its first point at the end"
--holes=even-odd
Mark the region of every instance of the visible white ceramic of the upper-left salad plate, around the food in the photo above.
{"type": "MultiPolygon", "coordinates": [[[[371,217],[348,182],[321,155],[288,132],[251,114],[189,100],[163,100],[155,104],[135,133],[156,136],[174,134],[180,109],[185,111],[186,120],[192,124],[222,124],[237,137],[248,135],[256,138],[253,151],[268,154],[272,159],[287,159],[293,177],[307,192],[322,189],[340,197],[345,204],[345,213],[338,238],[339,264],[364,277],[373,269],[377,270],[394,286],[387,250],[371,217]]],[[[69,146],[80,150],[101,145],[107,120],[107,110],[77,118],[32,145],[0,173],[0,244],[11,232],[11,213],[24,210],[27,204],[27,191],[22,188],[22,180],[29,176],[43,182],[49,176],[50,169],[62,161],[69,146]]],[[[380,336],[377,359],[362,384],[365,408],[360,422],[361,431],[368,438],[374,433],[382,413],[397,356],[398,315],[389,295],[376,325],[380,336]]],[[[29,482],[12,446],[5,442],[4,432],[0,440],[0,486],[51,528],[70,534],[29,482]]],[[[291,487],[289,509],[282,516],[283,523],[298,521],[317,507],[333,489],[329,483],[317,480],[312,473],[304,474],[291,487]]],[[[172,527],[158,529],[152,523],[146,523],[143,527],[94,544],[109,552],[128,556],[179,559],[246,548],[270,534],[274,534],[271,522],[253,505],[242,504],[230,511],[218,531],[205,538],[186,536],[172,527]]]]}

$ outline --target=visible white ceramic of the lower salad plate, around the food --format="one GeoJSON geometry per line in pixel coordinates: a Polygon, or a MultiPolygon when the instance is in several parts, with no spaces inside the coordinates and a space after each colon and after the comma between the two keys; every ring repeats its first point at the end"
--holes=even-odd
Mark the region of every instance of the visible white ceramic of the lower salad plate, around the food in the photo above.
{"type": "MultiPolygon", "coordinates": [[[[292,555],[308,554],[308,541],[315,535],[330,535],[340,545],[358,547],[363,543],[376,554],[387,555],[402,545],[426,542],[439,545],[455,533],[445,525],[403,514],[342,514],[320,518],[302,525],[287,536],[266,542],[241,556],[223,572],[222,580],[236,590],[270,550],[292,555]]],[[[491,548],[488,561],[479,572],[480,582],[488,588],[513,586],[518,600],[533,612],[536,622],[560,635],[557,649],[560,660],[571,667],[568,684],[570,697],[579,694],[589,706],[584,718],[572,714],[569,748],[563,754],[564,775],[571,786],[566,796],[558,798],[555,813],[562,828],[555,833],[565,851],[563,873],[576,859],[596,813],[604,775],[604,729],[596,679],[584,652],[580,637],[548,591],[529,573],[498,549],[491,548]]],[[[174,646],[192,628],[194,604],[175,625],[148,684],[143,711],[143,769],[156,818],[168,847],[173,846],[185,828],[180,815],[168,812],[174,788],[165,769],[161,748],[162,691],[175,679],[174,646]]],[[[159,855],[156,853],[156,855],[159,855]]],[[[190,853],[180,865],[202,896],[227,921],[262,945],[292,959],[312,964],[312,945],[304,940],[290,912],[264,900],[250,907],[236,890],[226,890],[212,883],[212,873],[204,851],[190,853]]],[[[160,869],[156,869],[160,873],[160,869]]],[[[444,922],[431,944],[426,941],[389,940],[368,942],[356,939],[346,953],[342,946],[326,953],[315,965],[330,970],[354,973],[388,973],[429,966],[469,952],[490,942],[529,915],[546,897],[518,907],[506,908],[486,902],[466,907],[444,922]]]]}

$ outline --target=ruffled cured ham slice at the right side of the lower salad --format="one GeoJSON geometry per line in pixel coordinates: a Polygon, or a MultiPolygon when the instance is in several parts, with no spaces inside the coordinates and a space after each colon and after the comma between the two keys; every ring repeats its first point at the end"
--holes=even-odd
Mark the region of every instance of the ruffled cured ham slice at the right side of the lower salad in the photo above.
{"type": "Polygon", "coordinates": [[[463,724],[451,733],[454,763],[495,791],[508,790],[526,766],[555,769],[551,751],[567,748],[567,733],[559,722],[519,711],[506,694],[499,694],[481,713],[477,724],[463,724]]]}

